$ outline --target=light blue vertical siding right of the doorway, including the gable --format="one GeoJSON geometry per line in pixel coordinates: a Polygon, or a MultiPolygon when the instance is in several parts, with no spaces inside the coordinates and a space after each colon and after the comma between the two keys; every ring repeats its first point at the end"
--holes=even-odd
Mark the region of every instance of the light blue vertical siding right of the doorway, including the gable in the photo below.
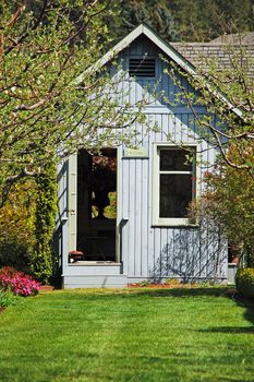
{"type": "MultiPolygon", "coordinates": [[[[124,273],[130,280],[146,277],[167,278],[181,277],[185,280],[193,278],[227,277],[227,249],[225,242],[206,224],[193,227],[153,227],[153,142],[167,142],[170,134],[172,141],[195,143],[198,139],[197,128],[191,110],[182,103],[176,104],[176,93],[179,88],[164,73],[166,63],[159,58],[157,49],[146,38],[137,39],[124,51],[122,60],[128,62],[130,57],[156,57],[157,75],[161,79],[159,91],[164,89],[168,100],[161,97],[157,100],[149,96],[149,105],[145,112],[152,126],[155,121],[158,132],[149,131],[144,135],[141,128],[144,147],[148,148],[148,158],[121,159],[120,219],[128,217],[122,231],[122,260],[124,273]]],[[[125,65],[126,68],[126,65],[125,65]]],[[[128,83],[128,81],[126,81],[128,83]]],[[[132,104],[140,100],[144,89],[154,88],[156,81],[137,79],[131,82],[129,100],[132,104]]],[[[185,86],[189,85],[185,83],[185,86]]],[[[203,107],[197,107],[204,114],[203,107]]],[[[202,160],[213,164],[215,151],[201,141],[204,151],[202,160]]],[[[206,166],[201,169],[201,178],[206,166]]],[[[197,184],[202,188],[202,184],[197,184]]]]}

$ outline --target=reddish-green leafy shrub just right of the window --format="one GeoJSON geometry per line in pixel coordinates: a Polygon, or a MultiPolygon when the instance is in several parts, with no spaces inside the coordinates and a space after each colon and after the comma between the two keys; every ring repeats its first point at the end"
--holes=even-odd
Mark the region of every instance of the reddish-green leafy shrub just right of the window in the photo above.
{"type": "MultiPolygon", "coordinates": [[[[231,150],[230,160],[238,160],[238,150],[231,150]]],[[[228,166],[222,158],[206,172],[206,191],[193,202],[190,214],[206,218],[223,234],[238,255],[254,266],[254,184],[249,170],[228,166]]]]}

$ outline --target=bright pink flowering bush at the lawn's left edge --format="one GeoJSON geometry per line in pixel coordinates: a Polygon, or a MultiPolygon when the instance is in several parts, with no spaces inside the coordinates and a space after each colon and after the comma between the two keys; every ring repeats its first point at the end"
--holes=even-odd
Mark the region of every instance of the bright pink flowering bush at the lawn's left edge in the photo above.
{"type": "Polygon", "coordinates": [[[12,291],[17,296],[36,295],[40,289],[39,283],[11,266],[4,266],[0,270],[0,284],[3,290],[12,291]]]}

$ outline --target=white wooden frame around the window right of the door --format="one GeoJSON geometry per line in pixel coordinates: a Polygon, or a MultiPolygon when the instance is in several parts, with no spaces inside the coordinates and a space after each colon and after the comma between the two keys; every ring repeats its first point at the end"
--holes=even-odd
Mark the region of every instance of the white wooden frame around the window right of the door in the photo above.
{"type": "MultiPolygon", "coordinates": [[[[195,160],[195,168],[193,169],[192,174],[195,177],[195,198],[196,199],[201,194],[201,167],[198,166],[199,163],[199,145],[197,143],[189,143],[189,142],[181,142],[179,144],[169,144],[168,142],[162,143],[154,143],[153,144],[153,226],[197,226],[197,224],[193,224],[190,222],[188,217],[159,217],[159,177],[160,177],[160,169],[159,169],[159,160],[160,160],[160,151],[167,150],[167,148],[176,148],[181,150],[184,147],[195,147],[196,148],[196,160],[195,160]]],[[[164,174],[191,174],[190,171],[164,171],[164,174]]]]}

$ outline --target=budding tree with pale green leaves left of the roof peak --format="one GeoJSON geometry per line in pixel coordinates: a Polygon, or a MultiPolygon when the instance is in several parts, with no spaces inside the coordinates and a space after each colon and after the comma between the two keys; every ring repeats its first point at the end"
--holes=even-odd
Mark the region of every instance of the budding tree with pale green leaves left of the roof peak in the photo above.
{"type": "Polygon", "coordinates": [[[49,158],[123,140],[118,128],[138,118],[105,92],[116,84],[102,68],[90,69],[109,41],[105,14],[113,14],[110,0],[1,2],[0,204],[49,158]]]}

